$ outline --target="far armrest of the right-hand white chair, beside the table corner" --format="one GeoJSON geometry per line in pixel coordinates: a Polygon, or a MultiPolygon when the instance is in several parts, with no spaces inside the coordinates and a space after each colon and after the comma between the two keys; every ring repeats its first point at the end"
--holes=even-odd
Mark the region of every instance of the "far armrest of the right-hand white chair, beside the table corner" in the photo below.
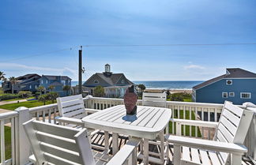
{"type": "Polygon", "coordinates": [[[203,126],[208,128],[216,128],[219,122],[205,122],[200,120],[186,120],[186,119],[179,119],[179,118],[170,118],[170,122],[177,122],[183,125],[188,126],[203,126]]]}

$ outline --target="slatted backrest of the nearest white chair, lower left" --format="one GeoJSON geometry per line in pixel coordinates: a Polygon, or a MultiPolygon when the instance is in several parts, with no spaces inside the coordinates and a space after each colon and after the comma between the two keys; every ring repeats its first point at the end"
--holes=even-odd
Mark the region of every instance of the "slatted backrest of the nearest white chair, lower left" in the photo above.
{"type": "Polygon", "coordinates": [[[23,125],[37,163],[95,164],[86,129],[73,129],[36,120],[23,125]]]}

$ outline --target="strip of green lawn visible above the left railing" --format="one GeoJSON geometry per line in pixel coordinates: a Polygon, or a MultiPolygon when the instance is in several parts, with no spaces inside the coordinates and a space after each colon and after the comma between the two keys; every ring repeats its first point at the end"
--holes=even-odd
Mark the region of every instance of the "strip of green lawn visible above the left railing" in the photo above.
{"type": "MultiPolygon", "coordinates": [[[[51,104],[51,101],[47,101],[46,104],[51,104]]],[[[43,106],[43,102],[32,100],[32,101],[25,101],[21,103],[9,103],[9,104],[0,106],[0,108],[6,109],[6,110],[15,110],[18,107],[39,107],[39,106],[43,106]]]]}

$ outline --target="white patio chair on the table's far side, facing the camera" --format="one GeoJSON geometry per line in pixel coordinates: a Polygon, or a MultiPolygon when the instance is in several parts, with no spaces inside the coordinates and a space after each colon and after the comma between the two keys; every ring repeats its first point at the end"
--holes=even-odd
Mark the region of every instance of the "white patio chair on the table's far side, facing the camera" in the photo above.
{"type": "MultiPolygon", "coordinates": [[[[163,93],[153,93],[153,92],[143,92],[142,94],[142,106],[149,106],[149,107],[166,107],[166,99],[167,95],[166,92],[163,93]]],[[[170,110],[171,111],[171,110],[170,110]]],[[[168,133],[169,127],[166,126],[166,133],[168,133]]],[[[141,141],[141,148],[142,148],[142,142],[141,141]]],[[[160,159],[161,162],[164,162],[165,159],[168,159],[168,142],[164,140],[164,131],[163,133],[159,133],[159,137],[156,139],[156,141],[149,141],[149,144],[154,144],[156,146],[160,147],[160,150],[164,148],[164,156],[163,152],[160,153],[160,159]]],[[[159,156],[155,152],[149,152],[150,154],[154,156],[159,156]]]]}

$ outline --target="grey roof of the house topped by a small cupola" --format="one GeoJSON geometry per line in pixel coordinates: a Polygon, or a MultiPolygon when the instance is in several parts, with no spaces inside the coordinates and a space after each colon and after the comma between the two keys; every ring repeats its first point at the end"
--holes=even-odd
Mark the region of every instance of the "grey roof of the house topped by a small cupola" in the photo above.
{"type": "MultiPolygon", "coordinates": [[[[115,86],[115,84],[119,82],[121,77],[125,77],[123,73],[111,73],[110,75],[107,75],[106,73],[95,73],[92,75],[92,77],[96,77],[96,76],[104,80],[108,84],[108,86],[115,86]]],[[[89,85],[89,80],[92,77],[90,77],[87,81],[85,81],[85,84],[84,84],[85,86],[89,85]]],[[[129,81],[127,78],[126,78],[126,81],[128,82],[128,84],[134,84],[133,82],[129,81]]]]}

